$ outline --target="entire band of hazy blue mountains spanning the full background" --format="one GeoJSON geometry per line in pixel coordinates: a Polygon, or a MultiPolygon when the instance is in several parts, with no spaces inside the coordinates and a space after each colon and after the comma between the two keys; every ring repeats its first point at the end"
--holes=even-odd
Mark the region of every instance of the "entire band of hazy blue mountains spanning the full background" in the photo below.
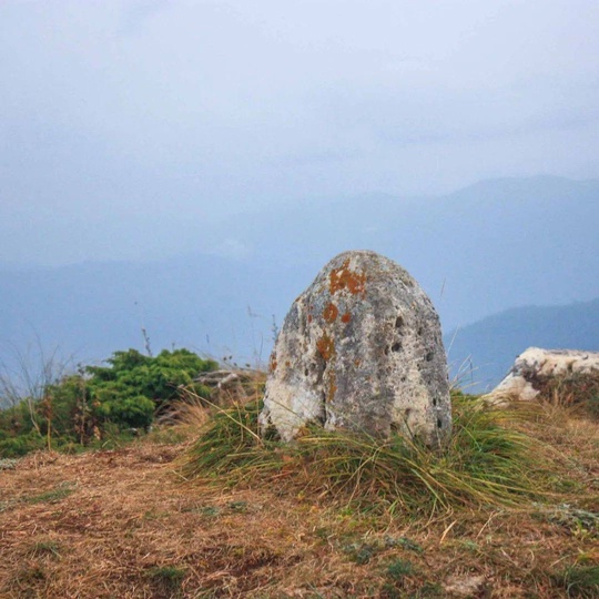
{"type": "Polygon", "coordinates": [[[100,361],[143,348],[142,328],[154,352],[174,344],[265,362],[273,328],[319,268],[338,252],[369,248],[415,276],[446,332],[460,327],[450,359],[496,364],[475,375],[484,384],[529,345],[580,346],[580,311],[560,337],[551,336],[552,316],[531,327],[532,312],[505,325],[505,315],[466,325],[517,306],[599,297],[598,230],[599,182],[558,177],[485,181],[444,197],[373,194],[261,209],[202,231],[194,254],[162,262],[7,265],[0,362],[35,337],[75,359],[100,361]]]}

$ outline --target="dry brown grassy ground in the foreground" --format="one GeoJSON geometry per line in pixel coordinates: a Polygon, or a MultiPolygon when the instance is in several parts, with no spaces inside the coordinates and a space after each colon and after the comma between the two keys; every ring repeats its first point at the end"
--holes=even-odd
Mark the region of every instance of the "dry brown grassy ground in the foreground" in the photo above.
{"type": "Polygon", "coordinates": [[[538,435],[581,501],[426,519],[283,479],[187,484],[181,438],[31,454],[0,471],[0,597],[599,596],[599,426],[551,409],[538,435]]]}

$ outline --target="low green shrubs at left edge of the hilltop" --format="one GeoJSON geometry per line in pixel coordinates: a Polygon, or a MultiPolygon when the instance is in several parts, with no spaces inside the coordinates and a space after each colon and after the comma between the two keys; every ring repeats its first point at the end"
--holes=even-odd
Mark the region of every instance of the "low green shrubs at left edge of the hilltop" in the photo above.
{"type": "Polygon", "coordinates": [[[0,455],[20,456],[44,446],[73,450],[112,426],[119,432],[149,429],[155,413],[179,398],[181,387],[206,397],[210,389],[194,378],[217,367],[187,349],[156,357],[128,349],[106,362],[45,385],[38,400],[26,397],[0,410],[0,455]]]}

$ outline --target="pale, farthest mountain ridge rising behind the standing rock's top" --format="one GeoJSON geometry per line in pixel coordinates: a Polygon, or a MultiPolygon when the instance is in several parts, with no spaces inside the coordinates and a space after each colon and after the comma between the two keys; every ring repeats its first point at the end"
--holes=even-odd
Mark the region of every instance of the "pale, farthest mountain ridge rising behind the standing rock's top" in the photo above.
{"type": "MultiPolygon", "coordinates": [[[[446,331],[509,307],[599,296],[599,181],[499,179],[443,197],[365,195],[262,211],[204,235],[300,292],[331,257],[367,248],[407,268],[446,331]]],[[[290,297],[293,300],[293,297],[290,297]]]]}

